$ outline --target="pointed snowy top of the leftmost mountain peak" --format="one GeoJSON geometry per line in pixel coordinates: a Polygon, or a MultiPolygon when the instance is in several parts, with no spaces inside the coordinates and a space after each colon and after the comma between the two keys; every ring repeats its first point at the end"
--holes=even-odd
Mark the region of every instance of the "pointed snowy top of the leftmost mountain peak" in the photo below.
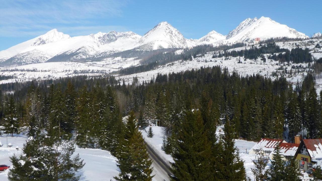
{"type": "Polygon", "coordinates": [[[59,40],[70,38],[68,34],[58,32],[57,29],[52,29],[47,33],[40,35],[35,38],[35,41],[32,42],[32,46],[43,45],[46,43],[57,42],[59,40]]]}

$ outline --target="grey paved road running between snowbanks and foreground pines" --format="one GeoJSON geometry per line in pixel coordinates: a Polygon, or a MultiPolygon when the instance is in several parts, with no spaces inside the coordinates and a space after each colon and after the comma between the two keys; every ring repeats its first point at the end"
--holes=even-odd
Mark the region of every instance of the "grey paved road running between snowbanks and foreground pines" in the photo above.
{"type": "Polygon", "coordinates": [[[170,170],[170,164],[166,160],[163,160],[156,154],[156,152],[145,142],[147,146],[147,153],[149,154],[152,162],[153,172],[155,181],[170,181],[169,175],[173,175],[170,170]]]}

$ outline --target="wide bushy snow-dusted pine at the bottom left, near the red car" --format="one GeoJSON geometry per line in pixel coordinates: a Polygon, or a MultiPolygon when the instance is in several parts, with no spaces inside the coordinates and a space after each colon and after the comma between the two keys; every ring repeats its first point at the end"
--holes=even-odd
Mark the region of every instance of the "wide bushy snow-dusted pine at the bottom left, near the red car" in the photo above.
{"type": "Polygon", "coordinates": [[[79,180],[75,173],[84,166],[79,155],[72,157],[72,141],[52,140],[47,135],[30,137],[24,144],[24,155],[11,157],[10,181],[19,180],[79,180]]]}

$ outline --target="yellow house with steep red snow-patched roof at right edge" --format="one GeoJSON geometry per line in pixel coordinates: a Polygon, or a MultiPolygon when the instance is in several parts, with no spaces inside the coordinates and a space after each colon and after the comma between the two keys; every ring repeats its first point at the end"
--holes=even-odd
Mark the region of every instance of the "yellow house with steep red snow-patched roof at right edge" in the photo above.
{"type": "Polygon", "coordinates": [[[313,165],[322,160],[322,139],[303,139],[296,151],[295,158],[298,167],[305,171],[312,171],[313,165]]]}

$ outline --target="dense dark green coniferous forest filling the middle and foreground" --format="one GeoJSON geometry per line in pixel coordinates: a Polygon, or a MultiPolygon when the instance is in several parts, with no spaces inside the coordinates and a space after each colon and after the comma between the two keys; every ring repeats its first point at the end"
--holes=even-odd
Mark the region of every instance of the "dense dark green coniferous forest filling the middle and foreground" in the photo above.
{"type": "MultiPolygon", "coordinates": [[[[322,136],[322,104],[311,73],[302,83],[290,84],[283,77],[201,67],[144,82],[133,77],[132,84],[113,76],[77,76],[1,89],[3,131],[30,136],[25,154],[11,157],[9,180],[78,180],[75,171],[86,163],[71,157],[74,144],[117,157],[115,180],[151,180],[151,161],[138,127],[156,120],[165,127],[162,148],[174,158],[174,180],[180,181],[246,180],[235,138],[292,140],[300,131],[304,138],[322,136]],[[223,136],[215,134],[219,125],[224,125],[223,136]]],[[[152,130],[149,134],[153,137],[152,130]]]]}

